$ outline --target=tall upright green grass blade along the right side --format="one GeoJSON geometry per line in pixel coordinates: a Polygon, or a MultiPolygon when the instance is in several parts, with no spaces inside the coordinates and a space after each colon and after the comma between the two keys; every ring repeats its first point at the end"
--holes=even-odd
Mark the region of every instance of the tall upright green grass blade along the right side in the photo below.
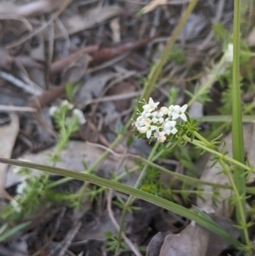
{"type": "MultiPolygon", "coordinates": [[[[232,86],[232,151],[233,158],[238,162],[244,162],[244,141],[241,122],[241,90],[240,90],[240,19],[241,1],[235,0],[234,10],[234,59],[233,59],[233,86],[232,86]]],[[[245,175],[243,168],[235,168],[234,181],[239,195],[245,194],[245,175]]],[[[246,218],[246,199],[241,198],[241,208],[236,205],[235,218],[241,225],[241,216],[246,218]]],[[[241,232],[241,240],[246,241],[246,235],[241,232]]],[[[248,244],[247,244],[248,245],[248,244]]]]}

